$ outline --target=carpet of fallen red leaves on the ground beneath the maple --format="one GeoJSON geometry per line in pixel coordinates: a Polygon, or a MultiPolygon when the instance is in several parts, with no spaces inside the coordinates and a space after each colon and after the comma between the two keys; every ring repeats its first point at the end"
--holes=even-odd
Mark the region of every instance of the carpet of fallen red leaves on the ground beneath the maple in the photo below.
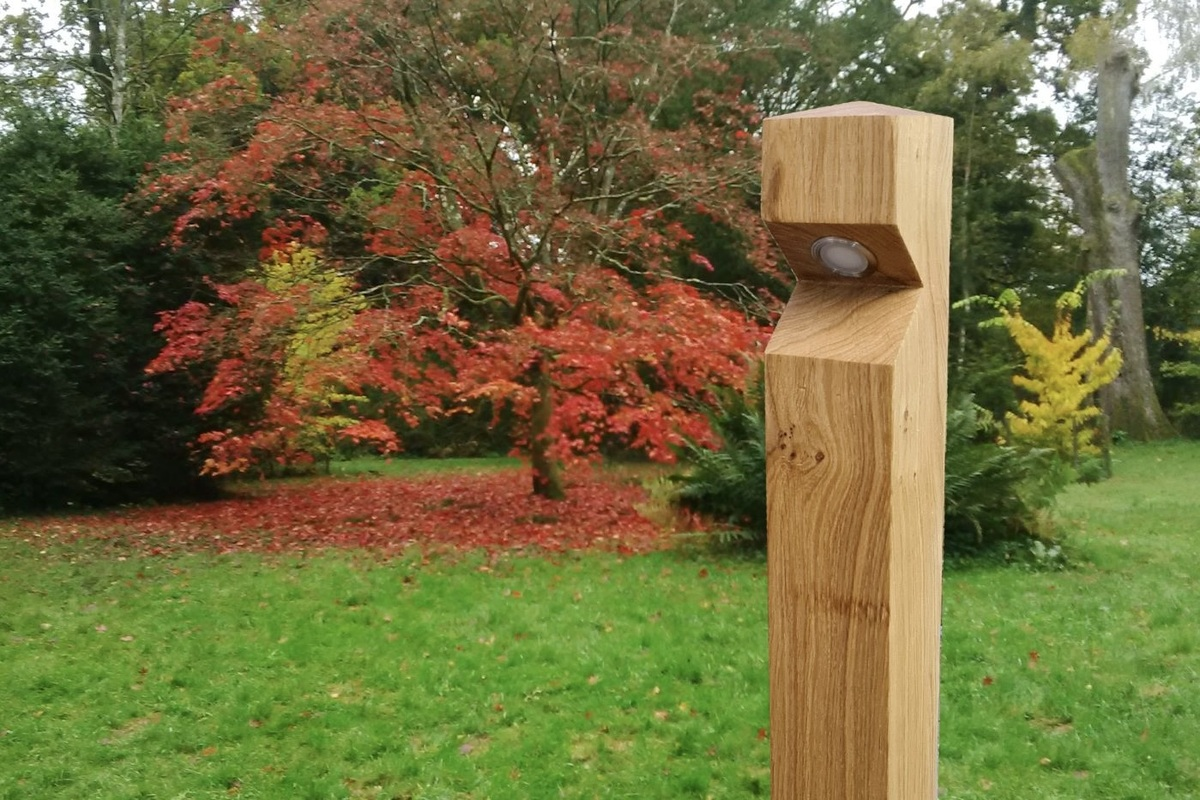
{"type": "Polygon", "coordinates": [[[659,528],[638,515],[637,486],[580,475],[568,499],[529,494],[527,473],[498,471],[408,479],[322,479],[268,485],[262,493],[30,519],[16,535],[40,542],[101,540],[145,554],[306,552],[408,547],[641,552],[662,547],[659,528]]]}

